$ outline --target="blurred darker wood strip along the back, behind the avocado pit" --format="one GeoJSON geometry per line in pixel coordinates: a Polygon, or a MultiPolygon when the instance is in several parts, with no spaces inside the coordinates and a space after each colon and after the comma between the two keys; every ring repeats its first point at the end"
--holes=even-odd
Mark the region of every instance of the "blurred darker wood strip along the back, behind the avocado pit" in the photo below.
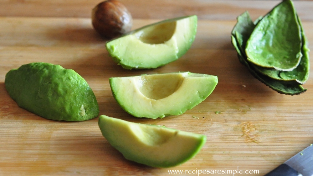
{"type": "MultiPolygon", "coordinates": [[[[266,14],[278,0],[120,0],[133,18],[165,19],[198,15],[200,19],[233,20],[248,10],[252,18],[266,14]]],[[[0,1],[0,16],[90,18],[100,0],[5,0],[0,1]]],[[[312,21],[313,1],[294,1],[302,20],[312,21]]]]}

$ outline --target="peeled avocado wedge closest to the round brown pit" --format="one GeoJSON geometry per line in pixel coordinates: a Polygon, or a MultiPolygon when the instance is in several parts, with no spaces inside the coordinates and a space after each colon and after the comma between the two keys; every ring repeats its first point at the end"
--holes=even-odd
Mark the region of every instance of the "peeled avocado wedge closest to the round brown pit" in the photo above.
{"type": "Polygon", "coordinates": [[[157,68],[173,62],[191,47],[196,15],[153,23],[106,43],[113,60],[126,69],[157,68]]]}

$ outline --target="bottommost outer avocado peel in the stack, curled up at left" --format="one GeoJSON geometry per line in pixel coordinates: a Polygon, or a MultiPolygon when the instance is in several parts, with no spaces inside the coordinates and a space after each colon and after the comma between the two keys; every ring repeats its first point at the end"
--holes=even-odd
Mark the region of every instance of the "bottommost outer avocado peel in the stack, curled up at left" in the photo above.
{"type": "Polygon", "coordinates": [[[298,95],[300,93],[304,93],[306,89],[304,89],[301,85],[278,81],[254,70],[253,65],[247,61],[247,57],[243,51],[247,38],[249,38],[250,34],[254,30],[255,24],[252,22],[248,12],[241,14],[237,20],[238,22],[233,28],[231,38],[232,44],[238,53],[239,62],[246,66],[255,78],[278,93],[286,95],[298,95]]]}

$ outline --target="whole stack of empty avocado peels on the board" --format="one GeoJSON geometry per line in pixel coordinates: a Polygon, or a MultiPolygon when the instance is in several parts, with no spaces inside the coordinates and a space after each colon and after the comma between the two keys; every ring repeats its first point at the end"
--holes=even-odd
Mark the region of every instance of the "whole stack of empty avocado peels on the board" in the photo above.
{"type": "Polygon", "coordinates": [[[259,81],[286,95],[298,95],[307,90],[301,84],[309,77],[309,48],[302,23],[291,0],[282,1],[268,14],[254,22],[247,11],[242,13],[237,18],[231,38],[240,63],[259,81]],[[290,10],[293,13],[289,13],[290,10]],[[282,24],[279,23],[287,23],[284,25],[293,27],[282,28],[282,24]],[[267,35],[268,33],[271,35],[267,35]],[[285,35],[281,35],[284,33],[285,35]],[[286,35],[288,33],[289,35],[286,35]],[[290,66],[292,62],[293,66],[290,66]],[[272,65],[264,66],[262,63],[272,65]]]}

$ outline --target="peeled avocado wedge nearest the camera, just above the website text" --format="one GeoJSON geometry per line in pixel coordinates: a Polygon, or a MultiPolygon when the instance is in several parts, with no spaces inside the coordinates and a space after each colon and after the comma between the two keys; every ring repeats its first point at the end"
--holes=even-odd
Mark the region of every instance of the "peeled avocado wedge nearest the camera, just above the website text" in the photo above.
{"type": "Polygon", "coordinates": [[[105,115],[100,115],[98,123],[102,135],[126,159],[157,168],[186,162],[206,142],[205,135],[105,115]]]}

